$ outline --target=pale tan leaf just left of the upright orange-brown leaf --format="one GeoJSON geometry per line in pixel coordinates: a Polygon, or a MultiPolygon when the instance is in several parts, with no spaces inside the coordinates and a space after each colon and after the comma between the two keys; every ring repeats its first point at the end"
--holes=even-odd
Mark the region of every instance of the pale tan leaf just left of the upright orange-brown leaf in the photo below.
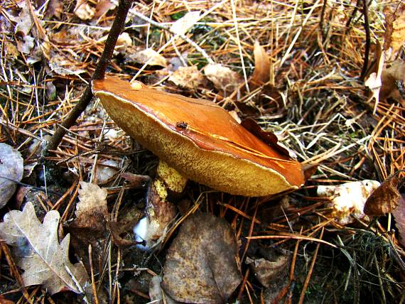
{"type": "Polygon", "coordinates": [[[233,92],[242,83],[242,77],[229,67],[210,64],[204,67],[204,74],[218,90],[233,92]]]}

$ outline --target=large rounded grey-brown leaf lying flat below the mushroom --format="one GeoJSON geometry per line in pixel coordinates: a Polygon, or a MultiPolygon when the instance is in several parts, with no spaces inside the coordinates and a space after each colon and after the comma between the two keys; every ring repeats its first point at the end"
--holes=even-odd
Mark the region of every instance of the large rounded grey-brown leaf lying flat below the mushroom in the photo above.
{"type": "Polygon", "coordinates": [[[163,289],[180,302],[224,303],[241,281],[237,247],[224,219],[189,217],[168,249],[163,289]]]}

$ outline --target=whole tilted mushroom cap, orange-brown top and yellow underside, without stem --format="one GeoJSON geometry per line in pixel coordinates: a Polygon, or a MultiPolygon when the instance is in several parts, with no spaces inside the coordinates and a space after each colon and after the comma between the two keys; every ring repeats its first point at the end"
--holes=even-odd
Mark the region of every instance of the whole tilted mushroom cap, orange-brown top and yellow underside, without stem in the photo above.
{"type": "Polygon", "coordinates": [[[301,163],[213,102],[112,77],[93,80],[92,90],[121,129],[190,180],[244,196],[303,185],[301,163]]]}

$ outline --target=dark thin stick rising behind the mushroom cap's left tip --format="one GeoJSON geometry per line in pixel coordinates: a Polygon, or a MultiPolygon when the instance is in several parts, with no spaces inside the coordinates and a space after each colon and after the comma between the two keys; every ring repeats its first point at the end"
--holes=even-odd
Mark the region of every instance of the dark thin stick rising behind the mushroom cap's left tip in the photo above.
{"type": "MultiPolygon", "coordinates": [[[[125,18],[128,14],[129,8],[131,7],[132,0],[120,0],[117,15],[114,18],[114,23],[112,23],[111,30],[109,31],[109,35],[105,42],[104,51],[97,63],[95,72],[93,72],[92,80],[94,79],[102,79],[104,78],[105,70],[109,61],[112,58],[112,53],[114,52],[115,45],[117,43],[117,39],[119,34],[121,33],[122,29],[124,28],[125,18]]],[[[58,148],[60,141],[62,141],[63,136],[66,134],[66,130],[70,128],[73,124],[75,124],[77,118],[85,111],[87,105],[92,100],[92,88],[91,88],[91,81],[85,92],[80,97],[80,100],[77,102],[75,107],[69,113],[68,117],[63,121],[62,126],[59,126],[58,129],[55,131],[55,134],[50,138],[48,144],[43,149],[43,156],[48,154],[49,150],[56,150],[58,148]]]]}

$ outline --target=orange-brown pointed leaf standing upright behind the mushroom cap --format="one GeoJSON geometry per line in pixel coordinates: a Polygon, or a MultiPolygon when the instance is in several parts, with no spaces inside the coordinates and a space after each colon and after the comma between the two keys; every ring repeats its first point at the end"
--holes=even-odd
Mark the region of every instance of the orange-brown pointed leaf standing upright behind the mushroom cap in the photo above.
{"type": "Polygon", "coordinates": [[[249,82],[250,89],[256,89],[270,80],[270,58],[259,41],[254,43],[254,71],[249,82]]]}

